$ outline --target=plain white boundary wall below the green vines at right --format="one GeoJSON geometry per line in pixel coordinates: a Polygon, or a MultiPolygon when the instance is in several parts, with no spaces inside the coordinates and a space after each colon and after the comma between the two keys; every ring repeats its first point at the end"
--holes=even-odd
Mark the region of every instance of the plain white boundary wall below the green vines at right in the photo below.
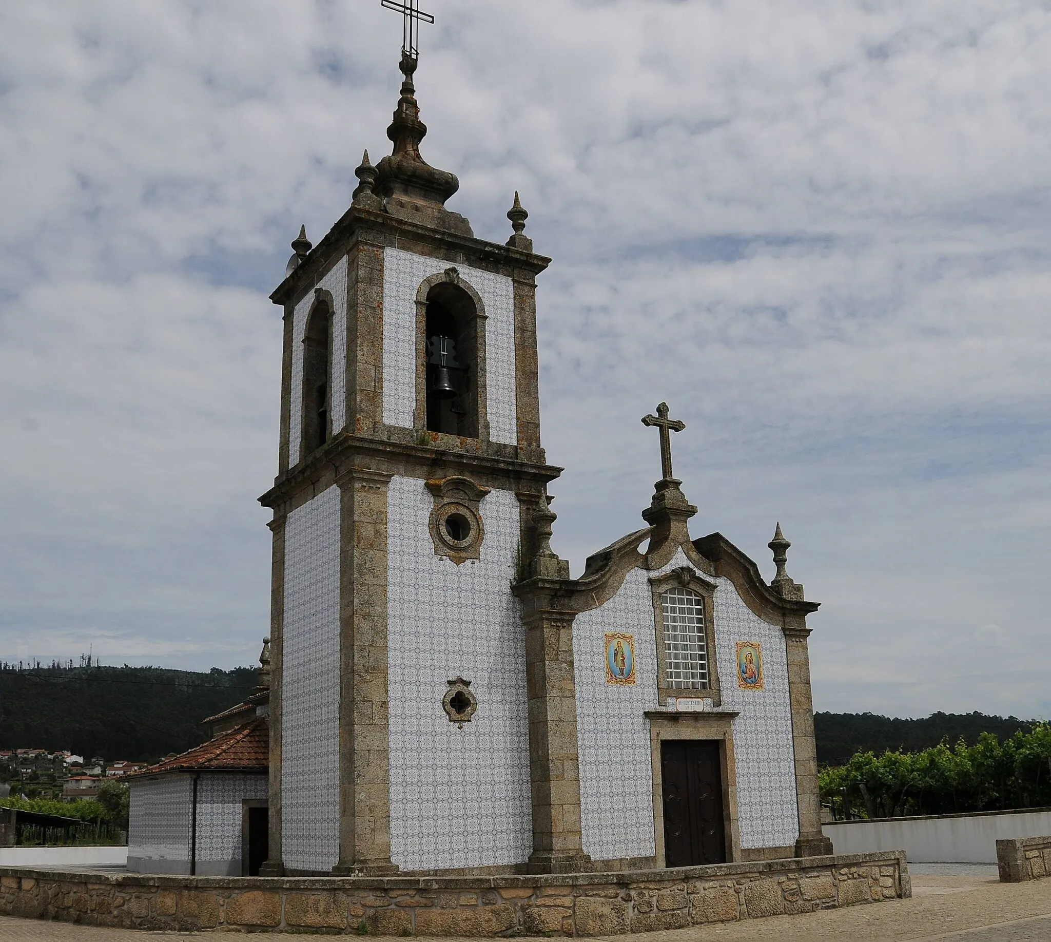
{"type": "Polygon", "coordinates": [[[837,854],[904,851],[910,863],[995,863],[1002,838],[1051,834],[1051,808],[822,824],[837,854]]]}

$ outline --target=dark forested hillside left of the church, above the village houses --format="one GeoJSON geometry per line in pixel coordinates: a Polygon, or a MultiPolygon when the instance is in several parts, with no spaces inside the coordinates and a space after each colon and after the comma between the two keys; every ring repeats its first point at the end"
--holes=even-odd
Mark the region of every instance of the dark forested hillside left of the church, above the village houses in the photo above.
{"type": "Polygon", "coordinates": [[[201,720],[239,703],[257,678],[252,668],[0,669],[0,750],[156,760],[204,742],[201,720]]]}

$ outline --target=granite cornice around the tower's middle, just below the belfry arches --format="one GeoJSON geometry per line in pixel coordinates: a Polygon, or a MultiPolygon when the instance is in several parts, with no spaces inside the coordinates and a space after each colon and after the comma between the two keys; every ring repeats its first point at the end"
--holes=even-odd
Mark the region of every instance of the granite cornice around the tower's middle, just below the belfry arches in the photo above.
{"type": "Polygon", "coordinates": [[[274,486],[259,501],[281,512],[304,488],[317,489],[318,482],[338,478],[357,469],[379,474],[404,474],[424,480],[461,475],[500,490],[543,493],[549,482],[562,473],[561,468],[507,456],[465,453],[407,445],[343,431],[305,462],[274,480],[274,486]]]}

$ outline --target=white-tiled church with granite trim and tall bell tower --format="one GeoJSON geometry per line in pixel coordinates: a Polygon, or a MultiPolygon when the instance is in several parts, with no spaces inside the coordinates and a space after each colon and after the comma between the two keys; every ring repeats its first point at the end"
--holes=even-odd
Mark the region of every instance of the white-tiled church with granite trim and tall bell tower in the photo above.
{"type": "MultiPolygon", "coordinates": [[[[301,230],[271,295],[270,680],[265,709],[242,717],[268,730],[269,778],[261,790],[253,766],[230,793],[266,797],[259,872],[831,853],[807,654],[818,605],[785,572],[788,541],[778,527],[767,582],[719,533],[691,536],[697,508],[672,470],[683,426],[661,404],[643,419],[662,463],[645,527],[570,577],[550,546],[561,469],[540,444],[536,281],[551,260],[517,193],[502,245],[447,208],[459,183],[420,156],[411,49],[400,67],[392,152],[376,166],[366,152],[352,205],[317,245],[301,230]]],[[[156,769],[137,781],[168,787],[156,769]]],[[[132,792],[135,819],[146,793],[132,792]]],[[[234,837],[224,865],[249,873],[234,837]]]]}

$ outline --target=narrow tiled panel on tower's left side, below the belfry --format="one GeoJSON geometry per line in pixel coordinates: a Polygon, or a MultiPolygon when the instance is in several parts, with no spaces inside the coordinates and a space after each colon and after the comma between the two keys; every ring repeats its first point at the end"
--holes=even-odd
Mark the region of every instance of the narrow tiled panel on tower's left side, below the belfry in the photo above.
{"type": "Polygon", "coordinates": [[[282,854],[328,871],[339,856],[339,489],[288,515],[282,664],[282,854]]]}

